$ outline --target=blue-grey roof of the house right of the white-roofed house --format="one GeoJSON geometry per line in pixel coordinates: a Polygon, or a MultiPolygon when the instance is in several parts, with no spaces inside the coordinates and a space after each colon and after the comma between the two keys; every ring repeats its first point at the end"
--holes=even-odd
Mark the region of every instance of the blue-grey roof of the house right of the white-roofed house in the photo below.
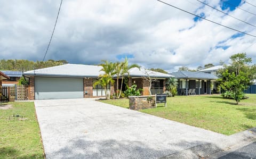
{"type": "Polygon", "coordinates": [[[218,79],[214,74],[203,72],[178,71],[170,74],[178,79],[218,79]]]}

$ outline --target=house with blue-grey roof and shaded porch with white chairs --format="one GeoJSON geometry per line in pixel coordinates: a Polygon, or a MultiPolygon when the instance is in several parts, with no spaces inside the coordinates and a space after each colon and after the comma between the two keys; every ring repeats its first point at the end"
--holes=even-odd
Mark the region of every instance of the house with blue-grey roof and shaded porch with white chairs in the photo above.
{"type": "Polygon", "coordinates": [[[210,73],[178,71],[170,73],[179,81],[178,94],[188,95],[189,89],[195,89],[197,95],[212,94],[212,90],[216,91],[217,86],[215,80],[217,76],[210,73]]]}

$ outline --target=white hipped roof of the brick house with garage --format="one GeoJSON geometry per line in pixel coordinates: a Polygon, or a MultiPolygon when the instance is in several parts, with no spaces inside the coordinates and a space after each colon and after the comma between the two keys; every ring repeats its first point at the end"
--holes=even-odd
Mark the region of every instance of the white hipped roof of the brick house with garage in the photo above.
{"type": "MultiPolygon", "coordinates": [[[[83,64],[65,64],[59,66],[53,66],[50,68],[31,70],[23,72],[25,76],[60,76],[60,77],[99,77],[103,74],[102,66],[97,65],[83,65],[83,64]]],[[[131,77],[159,77],[169,78],[170,74],[159,73],[146,69],[132,68],[129,70],[131,77]]]]}

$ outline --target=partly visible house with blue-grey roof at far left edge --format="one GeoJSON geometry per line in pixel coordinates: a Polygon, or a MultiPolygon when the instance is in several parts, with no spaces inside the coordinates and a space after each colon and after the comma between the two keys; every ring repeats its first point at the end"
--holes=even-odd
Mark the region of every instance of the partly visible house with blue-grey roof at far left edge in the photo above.
{"type": "Polygon", "coordinates": [[[15,86],[18,84],[19,79],[22,77],[21,71],[2,71],[4,74],[9,76],[9,80],[3,81],[3,86],[15,86]]]}

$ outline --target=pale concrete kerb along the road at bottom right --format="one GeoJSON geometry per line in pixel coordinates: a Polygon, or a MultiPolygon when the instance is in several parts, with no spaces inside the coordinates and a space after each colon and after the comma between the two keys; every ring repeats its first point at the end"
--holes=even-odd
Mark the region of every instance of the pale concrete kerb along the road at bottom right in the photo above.
{"type": "Polygon", "coordinates": [[[222,153],[225,150],[236,148],[238,145],[251,143],[255,139],[256,128],[252,128],[230,135],[224,140],[215,140],[212,143],[198,145],[162,158],[211,158],[213,155],[218,155],[218,153],[222,153]]]}

